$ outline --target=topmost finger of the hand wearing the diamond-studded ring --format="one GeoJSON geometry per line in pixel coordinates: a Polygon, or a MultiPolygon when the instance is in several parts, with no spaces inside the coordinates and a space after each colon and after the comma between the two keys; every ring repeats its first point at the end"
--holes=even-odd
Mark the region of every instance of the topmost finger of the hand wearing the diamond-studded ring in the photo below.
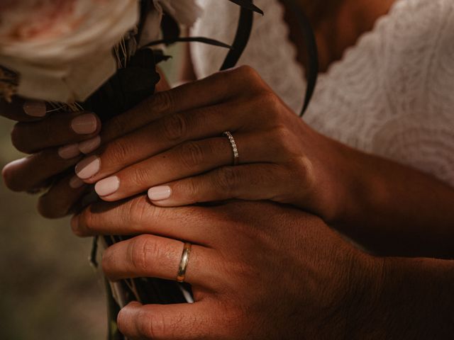
{"type": "MultiPolygon", "coordinates": [[[[255,85],[258,81],[248,80],[259,78],[257,72],[250,67],[238,67],[177,86],[170,91],[158,92],[131,111],[112,118],[105,124],[101,138],[103,141],[114,140],[167,115],[215,106],[228,99],[239,98],[244,95],[246,88],[248,94],[253,94],[260,86],[255,85]]],[[[260,84],[264,84],[263,81],[260,84]]]]}

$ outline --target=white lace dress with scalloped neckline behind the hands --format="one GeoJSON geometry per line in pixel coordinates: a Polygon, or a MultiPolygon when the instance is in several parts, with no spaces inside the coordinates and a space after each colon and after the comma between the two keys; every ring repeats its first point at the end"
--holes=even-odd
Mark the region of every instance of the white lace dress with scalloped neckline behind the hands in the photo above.
{"type": "MultiPolygon", "coordinates": [[[[199,0],[194,35],[232,42],[238,6],[199,0]]],[[[295,112],[306,81],[288,39],[284,8],[257,0],[253,35],[240,60],[295,112]]],[[[226,51],[192,45],[198,77],[218,70],[226,51]]],[[[260,113],[257,113],[260,115],[260,113]]],[[[324,135],[433,174],[454,186],[454,1],[396,0],[374,29],[321,74],[304,120],[324,135]]]]}

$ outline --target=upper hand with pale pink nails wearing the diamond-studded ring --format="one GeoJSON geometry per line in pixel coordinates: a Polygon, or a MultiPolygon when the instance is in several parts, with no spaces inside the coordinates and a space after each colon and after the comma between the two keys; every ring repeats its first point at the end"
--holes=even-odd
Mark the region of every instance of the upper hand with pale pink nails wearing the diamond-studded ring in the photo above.
{"type": "Polygon", "coordinates": [[[145,124],[76,167],[104,200],[150,189],[160,206],[267,199],[326,220],[341,210],[347,148],[311,130],[250,67],[162,92],[126,120],[145,124]],[[234,137],[238,166],[224,131],[234,137]]]}

